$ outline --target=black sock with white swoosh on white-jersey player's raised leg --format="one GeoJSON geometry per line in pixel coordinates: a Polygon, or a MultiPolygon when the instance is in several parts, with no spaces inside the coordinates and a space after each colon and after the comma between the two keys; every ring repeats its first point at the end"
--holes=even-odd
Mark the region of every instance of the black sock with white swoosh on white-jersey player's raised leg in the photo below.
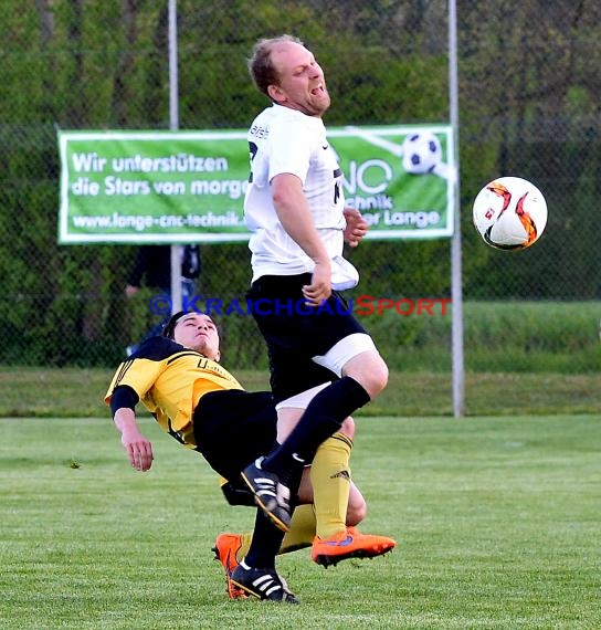
{"type": "Polygon", "coordinates": [[[365,388],[349,376],[328,385],[309,402],[286,440],[264,459],[262,468],[285,481],[291,471],[309,464],[319,444],[369,400],[365,388]]]}

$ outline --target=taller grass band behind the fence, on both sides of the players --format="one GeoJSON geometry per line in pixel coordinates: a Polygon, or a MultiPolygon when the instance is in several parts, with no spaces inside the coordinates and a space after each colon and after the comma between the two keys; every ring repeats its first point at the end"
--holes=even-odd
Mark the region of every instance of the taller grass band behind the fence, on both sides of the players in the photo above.
{"type": "MultiPolygon", "coordinates": [[[[357,295],[361,292],[357,290],[357,295]]],[[[146,323],[129,326],[126,321],[104,334],[86,330],[85,338],[73,335],[68,343],[50,344],[44,335],[12,335],[0,347],[0,364],[44,367],[115,369],[123,360],[125,346],[139,339],[156,317],[148,318],[150,294],[136,301],[135,311],[146,312],[146,323]],[[106,335],[108,337],[106,337],[106,335]]],[[[402,295],[389,295],[400,300],[402,295]]],[[[349,297],[351,298],[351,297],[349,297]]],[[[441,303],[425,311],[414,298],[414,312],[387,309],[371,315],[368,306],[377,307],[377,298],[355,303],[358,319],[370,332],[376,345],[393,372],[449,374],[453,309],[441,303]],[[363,315],[361,315],[363,313],[363,315]]],[[[200,304],[201,305],[201,304],[200,304]]],[[[267,372],[265,343],[251,317],[218,316],[221,328],[223,364],[240,372],[267,372]]],[[[134,316],[136,321],[136,316],[134,316]]],[[[465,369],[471,374],[563,374],[594,375],[601,372],[601,301],[541,302],[498,300],[463,303],[465,369]]],[[[101,326],[98,324],[98,326],[101,326]]],[[[94,328],[94,327],[93,327],[94,328]]],[[[83,335],[83,333],[82,333],[83,335]]],[[[56,340],[55,340],[56,342],[56,340]]],[[[64,342],[64,339],[62,339],[64,342]]]]}

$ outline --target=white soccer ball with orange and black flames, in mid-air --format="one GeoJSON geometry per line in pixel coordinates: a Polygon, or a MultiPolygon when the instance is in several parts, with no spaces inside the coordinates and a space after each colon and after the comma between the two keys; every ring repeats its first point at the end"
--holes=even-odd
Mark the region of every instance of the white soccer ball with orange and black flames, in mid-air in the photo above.
{"type": "Polygon", "coordinates": [[[523,250],[536,243],[547,224],[540,190],[520,177],[499,177],[474,199],[474,225],[484,242],[498,250],[523,250]]]}

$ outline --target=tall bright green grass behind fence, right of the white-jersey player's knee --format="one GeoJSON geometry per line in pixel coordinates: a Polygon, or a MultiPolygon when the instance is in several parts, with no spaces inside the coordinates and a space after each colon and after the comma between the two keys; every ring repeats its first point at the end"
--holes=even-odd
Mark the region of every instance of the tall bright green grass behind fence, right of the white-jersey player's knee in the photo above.
{"type": "MultiPolygon", "coordinates": [[[[452,307],[446,314],[361,318],[388,365],[398,371],[451,370],[452,307]]],[[[601,372],[601,303],[465,302],[464,354],[470,372],[601,372]]]]}

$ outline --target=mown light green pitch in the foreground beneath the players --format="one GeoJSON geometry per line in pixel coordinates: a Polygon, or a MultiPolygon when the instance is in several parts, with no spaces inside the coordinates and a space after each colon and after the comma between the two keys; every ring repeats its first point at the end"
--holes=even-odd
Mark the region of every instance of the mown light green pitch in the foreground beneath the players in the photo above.
{"type": "Polygon", "coordinates": [[[354,476],[383,558],[280,570],[289,607],[229,601],[210,547],[252,525],[203,460],[148,418],[134,472],[104,419],[0,419],[0,628],[600,627],[599,416],[361,418],[354,476]]]}

